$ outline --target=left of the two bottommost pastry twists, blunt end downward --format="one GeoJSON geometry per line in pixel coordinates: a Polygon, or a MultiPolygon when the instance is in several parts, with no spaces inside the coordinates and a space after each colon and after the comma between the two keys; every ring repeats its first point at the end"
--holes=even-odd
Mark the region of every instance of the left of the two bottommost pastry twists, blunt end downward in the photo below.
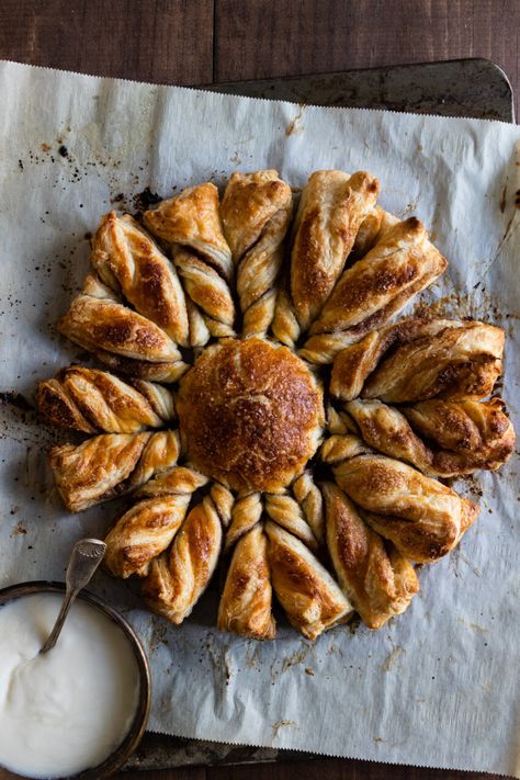
{"type": "Polygon", "coordinates": [[[261,524],[248,531],[233,553],[218,607],[217,629],[253,640],[273,640],[272,588],[261,524]]]}

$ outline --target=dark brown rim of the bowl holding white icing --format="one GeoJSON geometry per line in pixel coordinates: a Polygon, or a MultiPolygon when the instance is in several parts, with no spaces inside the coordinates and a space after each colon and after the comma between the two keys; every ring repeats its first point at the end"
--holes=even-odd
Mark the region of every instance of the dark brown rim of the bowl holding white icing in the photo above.
{"type": "MultiPolygon", "coordinates": [[[[0,608],[13,601],[18,598],[23,598],[24,596],[31,596],[34,594],[64,594],[66,590],[65,583],[49,581],[44,579],[29,580],[25,583],[16,583],[14,585],[9,585],[4,588],[0,588],[0,608]]],[[[116,772],[127,758],[134,753],[139,744],[143,734],[145,733],[146,725],[148,722],[148,715],[150,712],[151,704],[151,675],[150,666],[146,653],[143,648],[139,637],[136,632],[128,623],[128,621],[123,618],[123,615],[117,612],[113,607],[108,604],[99,596],[94,596],[88,590],[81,590],[78,594],[78,599],[87,602],[91,607],[98,609],[102,614],[112,620],[125,634],[128,644],[132,646],[135,659],[137,662],[137,668],[139,672],[139,699],[137,702],[137,709],[135,711],[132,725],[128,728],[124,739],[120,745],[113,750],[113,753],[108,756],[108,758],[99,764],[97,767],[91,767],[84,769],[77,775],[59,776],[55,780],[101,780],[102,778],[108,778],[114,772],[116,772]]],[[[26,778],[24,775],[16,775],[12,770],[2,767],[0,765],[0,779],[1,780],[38,780],[37,778],[26,778]]],[[[39,780],[46,780],[41,778],[39,780]]]]}

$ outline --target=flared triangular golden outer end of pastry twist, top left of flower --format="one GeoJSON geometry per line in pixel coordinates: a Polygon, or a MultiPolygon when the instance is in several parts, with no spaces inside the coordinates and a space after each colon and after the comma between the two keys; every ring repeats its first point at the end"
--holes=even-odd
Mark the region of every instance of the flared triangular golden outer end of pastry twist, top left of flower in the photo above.
{"type": "Polygon", "coordinates": [[[222,229],[215,184],[206,182],[183,190],[145,212],[143,221],[158,238],[194,250],[224,279],[231,279],[231,252],[222,229]]]}

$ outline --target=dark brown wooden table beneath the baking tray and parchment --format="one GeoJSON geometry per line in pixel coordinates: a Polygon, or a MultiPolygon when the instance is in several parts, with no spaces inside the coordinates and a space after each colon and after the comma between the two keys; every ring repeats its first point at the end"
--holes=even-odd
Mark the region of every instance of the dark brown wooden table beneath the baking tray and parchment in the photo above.
{"type": "MultiPolygon", "coordinates": [[[[1,0],[0,58],[200,84],[487,57],[520,87],[520,0],[1,0]]],[[[318,759],[121,775],[136,780],[483,780],[318,759]]]]}

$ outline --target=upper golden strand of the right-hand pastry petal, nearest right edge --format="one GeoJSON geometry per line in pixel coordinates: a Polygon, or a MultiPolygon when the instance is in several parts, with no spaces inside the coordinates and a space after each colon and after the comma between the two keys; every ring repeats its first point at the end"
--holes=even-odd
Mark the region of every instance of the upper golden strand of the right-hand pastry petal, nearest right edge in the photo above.
{"type": "Polygon", "coordinates": [[[361,395],[387,403],[484,398],[501,373],[504,330],[464,321],[399,347],[366,380],[361,395]]]}

